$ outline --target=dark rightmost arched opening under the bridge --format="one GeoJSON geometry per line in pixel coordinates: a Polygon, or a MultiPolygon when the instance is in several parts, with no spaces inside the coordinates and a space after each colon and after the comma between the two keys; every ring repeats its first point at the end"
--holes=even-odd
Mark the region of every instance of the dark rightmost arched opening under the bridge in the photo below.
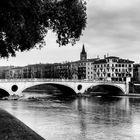
{"type": "Polygon", "coordinates": [[[114,85],[96,85],[88,88],[85,92],[91,96],[120,96],[123,95],[123,90],[114,85]]]}

